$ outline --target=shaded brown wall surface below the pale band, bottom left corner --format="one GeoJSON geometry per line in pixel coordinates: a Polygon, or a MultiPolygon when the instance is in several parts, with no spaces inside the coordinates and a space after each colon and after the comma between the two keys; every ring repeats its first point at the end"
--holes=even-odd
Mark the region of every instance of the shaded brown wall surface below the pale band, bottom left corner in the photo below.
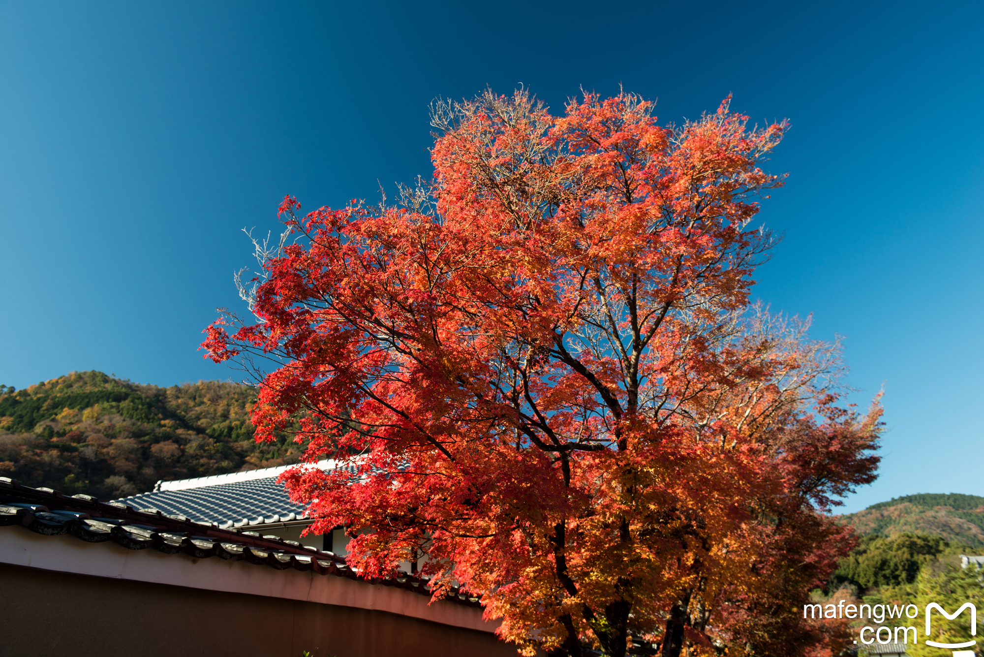
{"type": "Polygon", "coordinates": [[[494,634],[386,612],[0,564],[0,655],[515,657],[494,634]]]}

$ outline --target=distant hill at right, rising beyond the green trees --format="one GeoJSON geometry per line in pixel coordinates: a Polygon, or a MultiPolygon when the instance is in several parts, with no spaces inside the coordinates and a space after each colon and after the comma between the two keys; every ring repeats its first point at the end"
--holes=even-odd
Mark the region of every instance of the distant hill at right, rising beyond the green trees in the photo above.
{"type": "Polygon", "coordinates": [[[951,543],[984,548],[984,498],[975,495],[907,495],[840,518],[862,535],[931,534],[951,543]]]}

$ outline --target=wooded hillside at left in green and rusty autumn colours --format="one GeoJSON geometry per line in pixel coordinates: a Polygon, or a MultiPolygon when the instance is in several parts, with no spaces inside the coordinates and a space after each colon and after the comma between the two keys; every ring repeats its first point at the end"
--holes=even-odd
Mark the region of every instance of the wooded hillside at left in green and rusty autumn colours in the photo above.
{"type": "Polygon", "coordinates": [[[297,461],[301,446],[253,440],[254,388],[141,386],[101,372],[0,386],[0,476],[113,499],[181,479],[297,461]]]}

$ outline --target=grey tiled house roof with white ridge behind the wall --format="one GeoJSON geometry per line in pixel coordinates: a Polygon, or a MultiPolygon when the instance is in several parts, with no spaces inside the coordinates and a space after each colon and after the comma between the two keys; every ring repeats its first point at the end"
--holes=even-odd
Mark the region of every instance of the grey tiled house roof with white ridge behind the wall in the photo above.
{"type": "MultiPolygon", "coordinates": [[[[337,467],[321,461],[324,469],[337,467]]],[[[289,522],[305,516],[304,506],[290,501],[277,477],[290,466],[233,472],[211,477],[159,481],[152,493],[141,493],[117,502],[137,508],[159,510],[166,515],[184,515],[219,527],[289,522]]],[[[347,468],[354,474],[354,466],[347,468]]]]}

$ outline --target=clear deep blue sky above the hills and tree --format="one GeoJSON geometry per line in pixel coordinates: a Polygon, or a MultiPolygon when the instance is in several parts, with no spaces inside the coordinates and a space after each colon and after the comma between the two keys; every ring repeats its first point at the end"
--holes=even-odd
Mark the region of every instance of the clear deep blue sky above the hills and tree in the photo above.
{"type": "Polygon", "coordinates": [[[0,1],[0,383],[235,373],[239,229],[429,175],[427,105],[521,83],[555,110],[621,84],[660,120],[792,131],[756,294],[885,385],[881,479],[847,510],[984,495],[984,4],[0,1]]]}

